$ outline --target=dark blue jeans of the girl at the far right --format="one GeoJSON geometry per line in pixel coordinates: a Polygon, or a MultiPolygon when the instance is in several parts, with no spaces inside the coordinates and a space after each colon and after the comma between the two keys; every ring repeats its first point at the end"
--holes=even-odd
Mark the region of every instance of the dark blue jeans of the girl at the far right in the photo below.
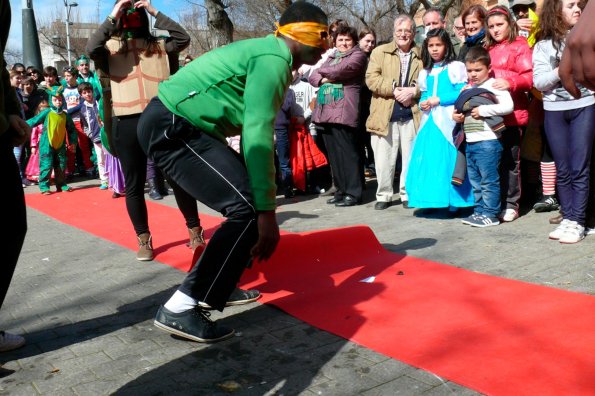
{"type": "Polygon", "coordinates": [[[565,219],[585,224],[595,105],[545,112],[545,134],[556,162],[556,188],[565,219]]]}

